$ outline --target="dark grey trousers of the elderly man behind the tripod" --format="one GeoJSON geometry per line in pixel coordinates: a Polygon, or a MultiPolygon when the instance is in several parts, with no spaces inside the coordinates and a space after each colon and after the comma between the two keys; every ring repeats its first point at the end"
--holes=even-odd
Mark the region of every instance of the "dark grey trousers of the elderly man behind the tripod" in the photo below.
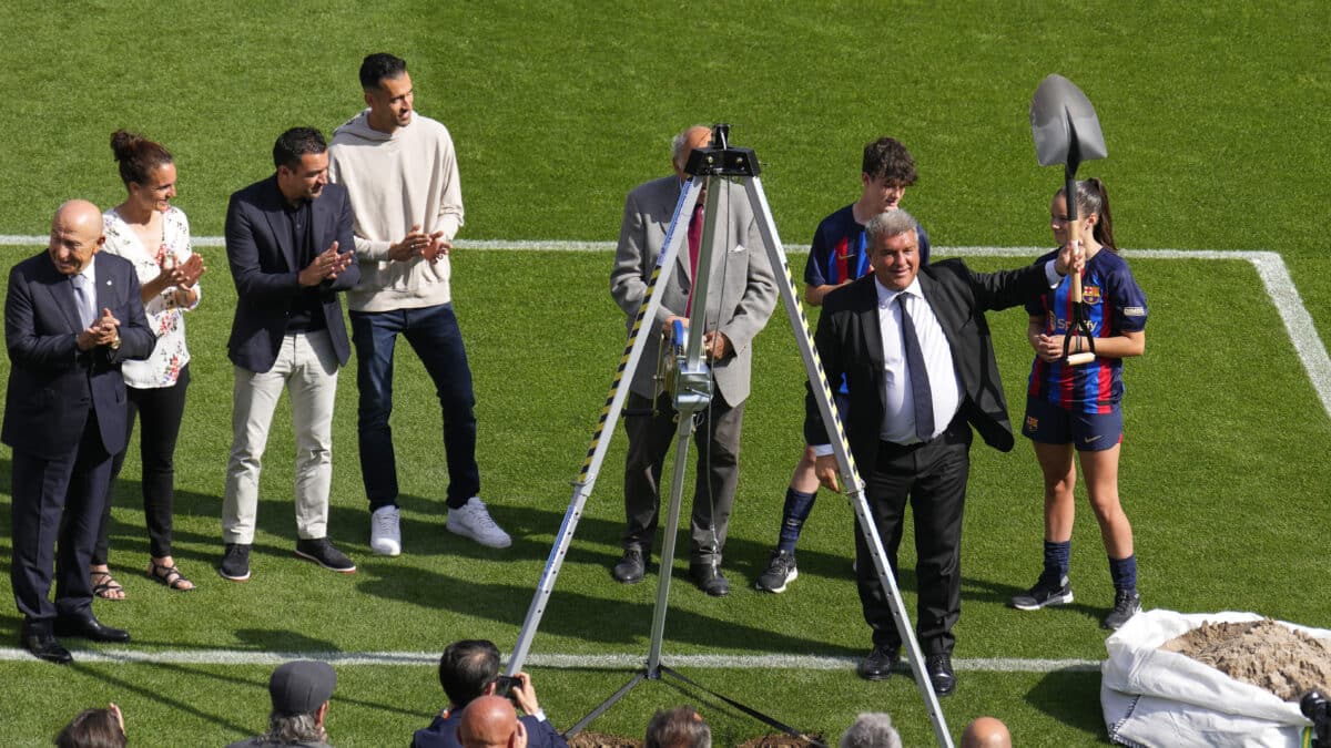
{"type": "MultiPolygon", "coordinates": [[[[660,515],[660,479],[666,455],[675,446],[675,409],[663,394],[652,415],[652,401],[628,394],[624,431],[628,457],[624,463],[624,550],[636,548],[650,556],[660,515]]],[[[689,563],[721,562],[735,486],[739,482],[740,426],[744,403],[731,406],[720,393],[697,415],[693,445],[697,449],[697,476],[689,520],[689,563]]],[[[668,528],[675,531],[675,528],[668,528]]]]}

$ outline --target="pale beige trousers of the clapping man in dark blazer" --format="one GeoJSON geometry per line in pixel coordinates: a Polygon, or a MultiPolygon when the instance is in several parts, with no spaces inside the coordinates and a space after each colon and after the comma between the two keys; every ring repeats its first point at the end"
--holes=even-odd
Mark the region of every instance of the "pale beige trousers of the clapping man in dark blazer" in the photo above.
{"type": "Polygon", "coordinates": [[[287,334],[273,369],[262,374],[241,366],[234,369],[232,454],[222,499],[224,542],[254,542],[264,449],[284,389],[291,397],[291,430],[295,433],[297,535],[302,540],[326,536],[338,370],[327,331],[287,334]]]}

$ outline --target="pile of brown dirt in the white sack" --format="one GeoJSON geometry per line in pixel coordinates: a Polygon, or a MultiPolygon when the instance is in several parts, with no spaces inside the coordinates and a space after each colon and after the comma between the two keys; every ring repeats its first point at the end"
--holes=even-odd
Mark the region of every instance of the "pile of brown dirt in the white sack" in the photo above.
{"type": "Polygon", "coordinates": [[[1331,687],[1331,642],[1275,620],[1203,623],[1161,650],[1178,652],[1225,675],[1298,701],[1311,688],[1331,687]]]}

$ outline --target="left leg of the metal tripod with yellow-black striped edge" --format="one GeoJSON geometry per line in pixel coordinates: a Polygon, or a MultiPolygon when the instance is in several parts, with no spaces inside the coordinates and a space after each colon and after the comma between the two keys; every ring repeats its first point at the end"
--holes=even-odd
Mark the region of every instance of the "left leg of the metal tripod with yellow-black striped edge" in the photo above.
{"type": "Polygon", "coordinates": [[[688,220],[680,222],[680,216],[692,216],[693,205],[697,202],[701,186],[700,180],[691,180],[687,189],[680,193],[679,204],[675,206],[675,216],[671,220],[669,229],[666,232],[666,246],[662,248],[660,256],[656,258],[656,266],[652,269],[652,278],[647,283],[643,303],[638,309],[638,317],[634,318],[634,327],[628,334],[628,342],[624,345],[624,353],[619,358],[619,367],[615,370],[610,395],[606,398],[606,405],[600,410],[600,418],[596,421],[591,446],[587,447],[587,457],[583,459],[578,479],[574,480],[572,499],[568,502],[568,510],[564,512],[563,523],[559,526],[559,535],[555,544],[550,548],[546,568],[540,572],[540,582],[536,583],[536,594],[531,598],[527,618],[523,620],[522,631],[518,634],[518,643],[508,657],[508,667],[506,669],[508,675],[518,673],[522,669],[522,664],[527,660],[531,640],[536,636],[536,630],[540,627],[540,616],[544,615],[546,604],[555,590],[555,580],[559,579],[559,570],[563,567],[564,555],[568,552],[574,532],[578,530],[583,507],[587,503],[587,498],[591,496],[592,488],[596,486],[596,476],[600,474],[602,463],[606,462],[606,451],[610,449],[610,439],[604,438],[606,427],[608,425],[614,430],[615,423],[619,421],[619,414],[624,410],[624,401],[628,398],[630,383],[634,381],[634,373],[642,365],[647,338],[656,334],[656,313],[662,307],[660,297],[656,295],[656,287],[669,281],[679,249],[684,244],[685,229],[688,228],[688,220]],[[643,334],[644,323],[652,327],[647,330],[647,334],[643,334]]]}

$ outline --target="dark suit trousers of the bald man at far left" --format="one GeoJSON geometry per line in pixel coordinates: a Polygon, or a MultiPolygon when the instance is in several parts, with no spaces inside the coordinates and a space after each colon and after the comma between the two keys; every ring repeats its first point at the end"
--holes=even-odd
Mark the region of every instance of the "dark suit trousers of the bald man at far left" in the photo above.
{"type": "Polygon", "coordinates": [[[15,450],[12,478],[9,582],[19,612],[37,626],[49,626],[57,615],[87,614],[92,610],[88,564],[110,479],[96,411],[88,410],[79,447],[68,455],[44,459],[15,450]],[[52,567],[55,603],[48,599],[52,567]]]}

